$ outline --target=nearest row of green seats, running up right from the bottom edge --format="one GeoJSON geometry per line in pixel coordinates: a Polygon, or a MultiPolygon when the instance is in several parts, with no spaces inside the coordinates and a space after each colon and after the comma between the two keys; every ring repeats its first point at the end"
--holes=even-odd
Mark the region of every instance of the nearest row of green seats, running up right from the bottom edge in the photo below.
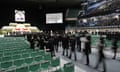
{"type": "Polygon", "coordinates": [[[30,64],[16,69],[7,70],[7,72],[41,72],[44,70],[49,71],[49,69],[51,69],[52,67],[57,67],[59,65],[60,65],[60,61],[57,58],[55,60],[52,60],[52,62],[42,61],[41,63],[30,64]]]}

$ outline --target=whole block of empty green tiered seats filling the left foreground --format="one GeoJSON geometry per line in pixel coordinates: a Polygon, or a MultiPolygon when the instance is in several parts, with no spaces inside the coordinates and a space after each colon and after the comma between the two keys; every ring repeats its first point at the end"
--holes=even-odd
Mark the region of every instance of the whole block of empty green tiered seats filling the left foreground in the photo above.
{"type": "Polygon", "coordinates": [[[54,68],[60,68],[59,58],[53,59],[51,53],[43,50],[30,49],[24,39],[0,38],[0,46],[2,72],[53,72],[54,68]]]}

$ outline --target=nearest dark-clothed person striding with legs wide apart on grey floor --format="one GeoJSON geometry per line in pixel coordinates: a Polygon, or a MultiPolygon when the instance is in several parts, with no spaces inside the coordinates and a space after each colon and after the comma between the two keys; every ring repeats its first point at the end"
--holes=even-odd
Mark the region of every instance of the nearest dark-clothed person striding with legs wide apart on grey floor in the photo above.
{"type": "Polygon", "coordinates": [[[98,54],[99,54],[99,58],[98,58],[98,62],[95,66],[95,69],[98,68],[98,66],[100,65],[100,63],[103,63],[103,72],[106,72],[106,64],[105,64],[105,56],[104,56],[104,53],[103,53],[103,50],[104,50],[104,38],[103,37],[100,37],[100,42],[98,44],[98,54]]]}

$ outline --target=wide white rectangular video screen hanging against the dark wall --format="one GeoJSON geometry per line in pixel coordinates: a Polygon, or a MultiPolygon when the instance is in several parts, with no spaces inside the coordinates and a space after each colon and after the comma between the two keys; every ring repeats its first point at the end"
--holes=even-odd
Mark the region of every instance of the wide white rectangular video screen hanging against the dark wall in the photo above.
{"type": "Polygon", "coordinates": [[[63,13],[48,13],[46,14],[46,24],[63,23],[63,13]]]}

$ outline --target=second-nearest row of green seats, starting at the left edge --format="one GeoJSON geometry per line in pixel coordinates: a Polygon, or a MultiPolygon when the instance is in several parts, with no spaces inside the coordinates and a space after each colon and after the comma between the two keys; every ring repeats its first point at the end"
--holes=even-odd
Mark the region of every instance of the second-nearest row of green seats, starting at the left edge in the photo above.
{"type": "Polygon", "coordinates": [[[14,59],[11,58],[4,58],[3,61],[1,61],[1,67],[0,70],[7,70],[7,69],[11,69],[13,66],[19,67],[22,65],[29,65],[29,64],[34,64],[34,63],[40,63],[42,61],[50,61],[51,62],[51,54],[47,53],[44,56],[43,55],[38,55],[35,57],[23,57],[23,58],[19,58],[19,57],[14,57],[14,59]]]}

